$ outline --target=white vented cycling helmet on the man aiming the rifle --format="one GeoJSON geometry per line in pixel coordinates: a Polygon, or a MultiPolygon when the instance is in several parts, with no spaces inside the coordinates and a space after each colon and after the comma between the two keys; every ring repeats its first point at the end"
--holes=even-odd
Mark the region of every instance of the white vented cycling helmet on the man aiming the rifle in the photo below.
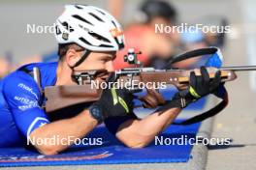
{"type": "Polygon", "coordinates": [[[124,47],[120,24],[108,12],[85,5],[66,5],[56,21],[59,43],[76,42],[90,51],[117,51],[124,47]]]}

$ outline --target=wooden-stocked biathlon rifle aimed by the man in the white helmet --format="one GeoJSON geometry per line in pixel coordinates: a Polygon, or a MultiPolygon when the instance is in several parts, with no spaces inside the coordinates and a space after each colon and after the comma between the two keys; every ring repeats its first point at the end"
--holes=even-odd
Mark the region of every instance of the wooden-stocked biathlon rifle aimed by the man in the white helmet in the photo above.
{"type": "MultiPolygon", "coordinates": [[[[215,55],[220,53],[218,48],[209,47],[186,52],[177,57],[172,63],[180,62],[188,58],[198,57],[201,55],[215,55]]],[[[190,72],[193,70],[155,70],[153,68],[143,68],[141,63],[137,61],[137,54],[130,50],[128,55],[124,57],[129,64],[136,64],[137,68],[127,68],[120,71],[115,71],[116,82],[130,83],[165,83],[167,85],[188,85],[190,72]]],[[[256,66],[242,66],[242,67],[222,67],[218,69],[221,71],[221,81],[233,81],[237,78],[236,71],[256,71],[256,66]]],[[[216,69],[208,68],[209,77],[213,78],[216,69]]],[[[102,89],[92,86],[95,74],[97,71],[76,71],[74,73],[79,85],[64,85],[64,86],[48,86],[45,88],[45,96],[47,98],[46,111],[53,112],[58,109],[63,109],[68,106],[80,104],[83,102],[95,101],[100,98],[102,89]],[[93,88],[94,87],[94,88],[93,88]]],[[[218,110],[222,110],[218,109],[218,110]]]]}

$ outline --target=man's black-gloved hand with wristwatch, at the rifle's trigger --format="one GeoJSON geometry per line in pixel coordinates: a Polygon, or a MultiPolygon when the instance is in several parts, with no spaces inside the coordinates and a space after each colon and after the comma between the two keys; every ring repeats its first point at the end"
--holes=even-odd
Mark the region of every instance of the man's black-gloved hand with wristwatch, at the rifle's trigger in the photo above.
{"type": "MultiPolygon", "coordinates": [[[[114,81],[114,74],[108,80],[114,81]]],[[[89,112],[99,123],[106,118],[125,116],[129,114],[134,106],[134,91],[125,88],[116,89],[109,86],[102,93],[101,98],[89,107],[89,112]]]]}

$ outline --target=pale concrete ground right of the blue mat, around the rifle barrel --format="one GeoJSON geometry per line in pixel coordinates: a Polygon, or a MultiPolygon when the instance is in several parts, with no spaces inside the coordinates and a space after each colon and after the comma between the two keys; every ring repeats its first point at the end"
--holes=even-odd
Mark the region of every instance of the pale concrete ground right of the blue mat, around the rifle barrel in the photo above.
{"type": "MultiPolygon", "coordinates": [[[[245,63],[238,43],[233,42],[232,53],[226,63],[245,63]]],[[[208,150],[207,170],[250,170],[256,169],[256,94],[249,87],[249,73],[238,73],[235,82],[227,84],[230,105],[214,118],[211,137],[233,139],[227,148],[208,150]]]]}

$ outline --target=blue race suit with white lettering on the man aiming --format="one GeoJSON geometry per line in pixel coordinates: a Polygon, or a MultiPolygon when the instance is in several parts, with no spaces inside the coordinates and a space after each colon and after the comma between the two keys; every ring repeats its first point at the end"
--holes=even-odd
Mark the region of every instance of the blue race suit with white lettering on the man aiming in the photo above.
{"type": "MultiPolygon", "coordinates": [[[[41,108],[46,99],[26,72],[33,71],[34,67],[41,73],[42,89],[55,85],[57,63],[25,65],[0,81],[0,147],[23,146],[34,129],[49,123],[48,115],[41,108]]],[[[136,116],[109,118],[105,125],[114,134],[119,125],[129,119],[136,116]]]]}

